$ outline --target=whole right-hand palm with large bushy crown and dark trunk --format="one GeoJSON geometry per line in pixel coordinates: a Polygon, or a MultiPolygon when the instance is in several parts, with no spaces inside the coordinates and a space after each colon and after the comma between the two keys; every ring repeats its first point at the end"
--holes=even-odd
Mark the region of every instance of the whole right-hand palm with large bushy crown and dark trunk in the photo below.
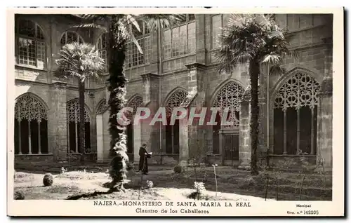
{"type": "Polygon", "coordinates": [[[216,53],[219,72],[232,73],[238,64],[249,64],[251,83],[251,174],[257,175],[258,144],[258,77],[262,64],[270,65],[270,74],[284,74],[285,55],[296,55],[289,50],[286,30],[278,27],[272,15],[233,14],[220,35],[222,46],[216,53]]]}

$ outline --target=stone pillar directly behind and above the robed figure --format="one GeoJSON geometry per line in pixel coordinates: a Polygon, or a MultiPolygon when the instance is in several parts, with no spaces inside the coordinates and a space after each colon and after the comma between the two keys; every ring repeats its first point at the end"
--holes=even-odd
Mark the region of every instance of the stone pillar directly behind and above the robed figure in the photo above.
{"type": "MultiPolygon", "coordinates": [[[[150,121],[152,120],[154,114],[157,112],[160,106],[159,102],[159,87],[160,87],[160,76],[157,74],[142,74],[143,85],[144,85],[144,95],[143,95],[143,104],[140,107],[147,107],[150,109],[151,114],[148,119],[145,119],[140,122],[141,126],[141,142],[140,144],[147,144],[147,147],[154,153],[152,157],[152,162],[154,158],[162,153],[162,144],[161,144],[161,122],[155,123],[154,126],[150,126],[150,121]]],[[[137,156],[135,156],[137,157],[137,156]]],[[[135,161],[136,162],[136,161],[135,161]]],[[[159,161],[157,161],[158,163],[159,161]]]]}

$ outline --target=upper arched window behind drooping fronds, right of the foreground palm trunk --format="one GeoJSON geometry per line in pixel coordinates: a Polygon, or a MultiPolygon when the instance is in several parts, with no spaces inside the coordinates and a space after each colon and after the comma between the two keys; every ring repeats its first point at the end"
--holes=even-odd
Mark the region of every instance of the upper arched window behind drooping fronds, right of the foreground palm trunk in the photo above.
{"type": "Polygon", "coordinates": [[[143,53],[140,53],[135,43],[128,42],[126,48],[126,67],[136,67],[139,65],[147,65],[150,63],[151,56],[151,36],[145,22],[138,21],[140,31],[133,27],[133,34],[138,41],[143,53]]]}

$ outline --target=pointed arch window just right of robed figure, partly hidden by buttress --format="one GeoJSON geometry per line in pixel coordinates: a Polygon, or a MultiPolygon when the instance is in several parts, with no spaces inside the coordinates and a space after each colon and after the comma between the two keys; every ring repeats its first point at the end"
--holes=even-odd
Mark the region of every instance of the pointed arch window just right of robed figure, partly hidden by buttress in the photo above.
{"type": "Polygon", "coordinates": [[[179,154],[179,120],[176,119],[174,125],[170,122],[173,109],[180,107],[185,97],[187,97],[187,91],[176,90],[166,102],[166,154],[179,154]]]}

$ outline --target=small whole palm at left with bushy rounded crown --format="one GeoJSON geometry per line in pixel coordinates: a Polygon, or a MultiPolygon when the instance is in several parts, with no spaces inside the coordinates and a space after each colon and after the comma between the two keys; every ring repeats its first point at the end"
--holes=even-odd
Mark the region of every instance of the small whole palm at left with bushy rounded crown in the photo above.
{"type": "Polygon", "coordinates": [[[56,76],[78,79],[79,90],[79,148],[84,159],[85,154],[85,122],[84,122],[84,91],[85,81],[89,76],[100,79],[104,69],[104,60],[100,58],[98,49],[88,43],[68,43],[62,47],[56,60],[58,69],[56,76]]]}

